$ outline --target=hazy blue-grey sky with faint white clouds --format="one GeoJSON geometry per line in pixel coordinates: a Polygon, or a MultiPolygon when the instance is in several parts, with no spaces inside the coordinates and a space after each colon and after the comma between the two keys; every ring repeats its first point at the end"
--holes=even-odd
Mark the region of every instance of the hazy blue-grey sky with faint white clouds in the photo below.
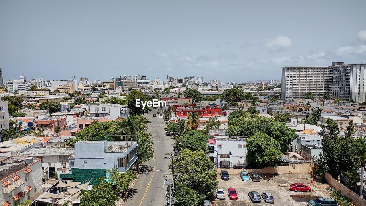
{"type": "Polygon", "coordinates": [[[366,1],[0,0],[4,80],[129,74],[280,80],[366,62],[366,1]]]}

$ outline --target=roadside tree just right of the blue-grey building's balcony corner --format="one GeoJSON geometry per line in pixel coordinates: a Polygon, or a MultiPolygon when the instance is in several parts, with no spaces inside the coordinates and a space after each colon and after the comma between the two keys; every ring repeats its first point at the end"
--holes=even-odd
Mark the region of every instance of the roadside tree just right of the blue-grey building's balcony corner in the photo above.
{"type": "Polygon", "coordinates": [[[141,133],[138,135],[137,139],[137,169],[138,165],[142,164],[143,162],[147,162],[150,158],[154,156],[154,150],[152,145],[154,144],[153,141],[150,140],[151,135],[141,133]]]}

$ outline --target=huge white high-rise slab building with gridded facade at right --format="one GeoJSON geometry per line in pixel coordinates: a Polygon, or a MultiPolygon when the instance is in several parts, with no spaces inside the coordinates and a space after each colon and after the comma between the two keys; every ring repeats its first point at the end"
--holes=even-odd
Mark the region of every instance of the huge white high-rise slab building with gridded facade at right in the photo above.
{"type": "Polygon", "coordinates": [[[281,69],[282,99],[303,99],[306,92],[311,92],[315,99],[328,93],[329,99],[366,102],[366,64],[332,62],[332,66],[281,69]]]}

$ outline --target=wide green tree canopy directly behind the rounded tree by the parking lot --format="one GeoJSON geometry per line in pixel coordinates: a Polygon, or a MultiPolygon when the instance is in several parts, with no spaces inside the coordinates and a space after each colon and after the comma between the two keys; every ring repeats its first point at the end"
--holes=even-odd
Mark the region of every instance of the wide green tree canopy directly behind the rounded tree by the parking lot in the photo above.
{"type": "Polygon", "coordinates": [[[257,132],[275,138],[280,143],[281,152],[287,151],[288,145],[297,137],[295,129],[289,129],[283,122],[277,122],[272,118],[238,118],[235,116],[230,118],[229,116],[229,136],[252,136],[257,132]]]}

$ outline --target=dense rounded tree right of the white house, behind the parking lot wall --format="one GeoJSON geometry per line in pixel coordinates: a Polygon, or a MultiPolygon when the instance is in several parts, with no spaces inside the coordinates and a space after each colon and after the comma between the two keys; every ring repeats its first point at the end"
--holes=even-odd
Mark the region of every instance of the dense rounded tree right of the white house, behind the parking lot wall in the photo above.
{"type": "Polygon", "coordinates": [[[273,137],[257,132],[247,140],[246,160],[260,168],[280,165],[282,152],[280,144],[273,137]]]}

